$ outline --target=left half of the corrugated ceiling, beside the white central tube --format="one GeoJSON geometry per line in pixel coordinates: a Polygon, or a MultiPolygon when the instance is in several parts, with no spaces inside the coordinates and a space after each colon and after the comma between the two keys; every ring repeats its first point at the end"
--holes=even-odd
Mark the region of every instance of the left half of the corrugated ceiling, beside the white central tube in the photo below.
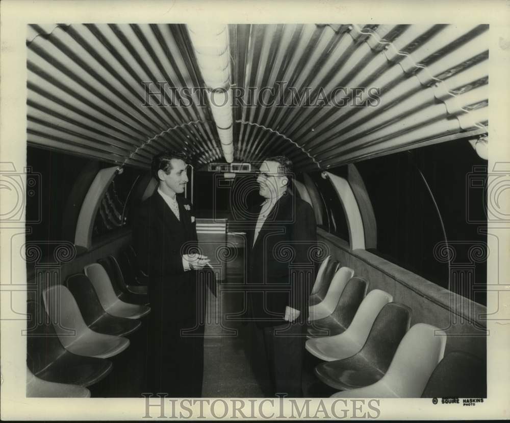
{"type": "Polygon", "coordinates": [[[190,107],[155,105],[199,87],[182,32],[168,25],[29,26],[29,142],[142,167],[171,148],[197,162],[221,159],[196,93],[190,107]]]}

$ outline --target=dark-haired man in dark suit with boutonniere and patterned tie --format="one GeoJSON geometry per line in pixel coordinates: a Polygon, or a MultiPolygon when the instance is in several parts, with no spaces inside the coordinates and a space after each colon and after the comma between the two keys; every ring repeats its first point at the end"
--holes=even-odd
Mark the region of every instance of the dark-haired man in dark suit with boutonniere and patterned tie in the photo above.
{"type": "Polygon", "coordinates": [[[208,262],[196,254],[190,202],[177,196],[188,182],[185,158],[165,152],[152,160],[158,190],[140,206],[133,230],[142,269],[149,275],[147,386],[170,397],[201,396],[205,292],[197,270],[208,262]]]}

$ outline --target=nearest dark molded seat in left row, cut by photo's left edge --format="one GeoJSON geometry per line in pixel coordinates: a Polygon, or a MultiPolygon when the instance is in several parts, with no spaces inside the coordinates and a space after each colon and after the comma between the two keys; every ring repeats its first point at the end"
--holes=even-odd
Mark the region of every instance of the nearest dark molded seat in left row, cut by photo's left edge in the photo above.
{"type": "Polygon", "coordinates": [[[112,363],[109,360],[77,356],[62,346],[42,304],[29,301],[27,314],[32,322],[37,322],[37,325],[29,323],[32,327],[27,337],[27,365],[38,378],[90,386],[110,373],[112,363]]]}

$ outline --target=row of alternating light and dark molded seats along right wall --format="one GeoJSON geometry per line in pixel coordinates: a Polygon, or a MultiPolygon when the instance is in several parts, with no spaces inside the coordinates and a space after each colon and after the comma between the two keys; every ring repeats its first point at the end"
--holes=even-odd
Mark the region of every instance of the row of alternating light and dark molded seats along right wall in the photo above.
{"type": "Polygon", "coordinates": [[[342,390],[332,396],[484,396],[482,360],[464,351],[443,357],[444,331],[426,323],[410,327],[409,307],[385,291],[367,290],[368,282],[352,269],[331,257],[322,263],[310,298],[306,349],[325,362],[315,367],[317,378],[342,390]]]}

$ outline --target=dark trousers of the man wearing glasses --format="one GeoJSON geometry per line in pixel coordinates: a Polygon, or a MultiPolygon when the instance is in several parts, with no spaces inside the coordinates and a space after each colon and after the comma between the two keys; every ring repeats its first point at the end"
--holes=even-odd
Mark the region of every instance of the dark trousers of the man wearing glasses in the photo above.
{"type": "Polygon", "coordinates": [[[302,397],[306,326],[289,322],[266,327],[250,322],[250,326],[250,361],[265,396],[302,397]]]}

